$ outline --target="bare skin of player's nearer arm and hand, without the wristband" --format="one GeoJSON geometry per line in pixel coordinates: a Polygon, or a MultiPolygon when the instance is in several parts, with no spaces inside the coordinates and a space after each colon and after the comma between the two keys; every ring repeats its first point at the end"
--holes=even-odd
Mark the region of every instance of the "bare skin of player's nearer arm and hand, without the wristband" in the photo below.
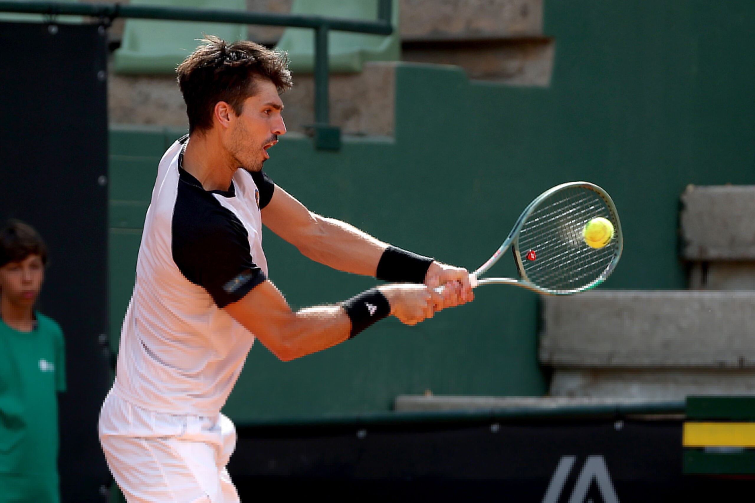
{"type": "MultiPolygon", "coordinates": [[[[387,284],[377,290],[390,305],[389,314],[408,325],[433,317],[442,308],[442,296],[421,284],[387,284]]],[[[356,302],[363,302],[358,297],[356,302]]],[[[283,361],[330,348],[353,334],[354,320],[344,305],[293,311],[270,280],[224,309],[283,361]]]]}

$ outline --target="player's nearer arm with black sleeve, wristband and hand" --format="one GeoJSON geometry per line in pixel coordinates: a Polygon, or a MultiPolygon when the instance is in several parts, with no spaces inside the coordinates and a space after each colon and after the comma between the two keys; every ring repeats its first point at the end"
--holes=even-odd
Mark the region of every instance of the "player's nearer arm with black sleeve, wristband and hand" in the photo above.
{"type": "Polygon", "coordinates": [[[196,180],[179,186],[171,252],[183,276],[204,288],[219,308],[257,336],[281,360],[329,348],[393,314],[417,324],[455,305],[457,291],[443,295],[422,284],[387,284],[341,305],[291,310],[251,256],[251,242],[236,213],[223,207],[196,180]]]}

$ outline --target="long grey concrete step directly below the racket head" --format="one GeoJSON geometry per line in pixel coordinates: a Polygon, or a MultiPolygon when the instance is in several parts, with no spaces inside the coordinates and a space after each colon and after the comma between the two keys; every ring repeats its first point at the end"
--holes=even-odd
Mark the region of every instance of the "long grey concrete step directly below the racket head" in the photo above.
{"type": "Polygon", "coordinates": [[[542,307],[551,367],[755,369],[755,292],[595,290],[542,307]]]}

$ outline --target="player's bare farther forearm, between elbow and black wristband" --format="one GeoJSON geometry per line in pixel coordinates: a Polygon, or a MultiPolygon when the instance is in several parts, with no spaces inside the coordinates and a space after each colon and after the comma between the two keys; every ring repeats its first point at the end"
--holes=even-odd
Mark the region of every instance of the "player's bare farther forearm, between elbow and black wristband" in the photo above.
{"type": "Polygon", "coordinates": [[[316,232],[299,250],[304,256],[339,271],[374,276],[387,246],[353,225],[319,216],[316,232]]]}

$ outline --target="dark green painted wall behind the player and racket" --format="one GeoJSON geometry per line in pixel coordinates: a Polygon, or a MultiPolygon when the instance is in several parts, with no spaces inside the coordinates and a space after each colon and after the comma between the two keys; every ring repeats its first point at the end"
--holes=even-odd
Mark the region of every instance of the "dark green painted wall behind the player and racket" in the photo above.
{"type": "MultiPolygon", "coordinates": [[[[755,48],[752,26],[749,2],[547,0],[544,32],[556,44],[550,87],[402,64],[395,140],[347,138],[340,152],[318,152],[288,135],[266,170],[318,213],[468,268],[487,259],[544,189],[587,179],[612,194],[624,227],[624,256],[605,287],[683,288],[685,186],[755,183],[755,64],[743,55],[755,48]]],[[[114,328],[133,284],[156,164],[177,135],[111,131],[114,328]]],[[[294,307],[376,282],[314,264],[270,232],[264,244],[270,278],[294,307]]],[[[513,273],[508,263],[497,267],[513,273]]],[[[510,287],[476,296],[418,327],[389,319],[291,363],[255,345],[225,412],[237,420],[359,413],[426,390],[544,394],[537,296],[510,287]]]]}

